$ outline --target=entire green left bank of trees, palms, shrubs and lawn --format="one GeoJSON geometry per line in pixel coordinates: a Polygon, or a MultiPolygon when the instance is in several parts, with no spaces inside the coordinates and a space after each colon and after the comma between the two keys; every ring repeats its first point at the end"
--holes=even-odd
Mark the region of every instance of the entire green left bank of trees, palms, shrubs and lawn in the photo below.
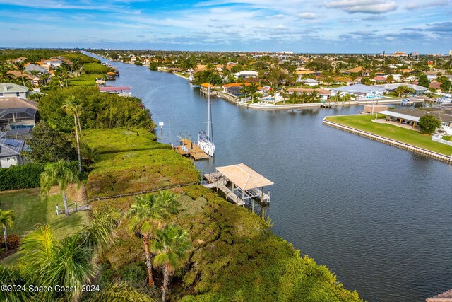
{"type": "Polygon", "coordinates": [[[140,99],[90,87],[85,68],[106,71],[97,60],[0,58],[18,56],[72,64],[34,97],[30,163],[0,170],[0,281],[27,289],[1,301],[361,301],[268,221],[194,185],[198,171],[155,141],[140,99]]]}

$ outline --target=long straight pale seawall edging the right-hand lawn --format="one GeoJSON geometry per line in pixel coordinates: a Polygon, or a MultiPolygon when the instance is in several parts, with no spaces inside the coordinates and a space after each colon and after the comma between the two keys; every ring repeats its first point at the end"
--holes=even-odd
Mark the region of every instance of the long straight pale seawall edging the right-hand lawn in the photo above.
{"type": "Polygon", "coordinates": [[[401,141],[396,141],[395,139],[387,139],[386,137],[381,137],[381,136],[376,135],[376,134],[371,134],[369,132],[365,132],[365,131],[362,131],[362,130],[359,130],[359,129],[355,129],[355,128],[352,128],[352,127],[344,126],[344,125],[338,124],[336,122],[330,122],[330,121],[326,120],[326,118],[328,118],[328,117],[323,118],[322,122],[323,122],[323,124],[326,124],[328,126],[335,127],[337,129],[341,129],[341,130],[344,130],[346,132],[350,132],[350,133],[353,133],[353,134],[358,134],[358,135],[360,135],[362,137],[367,137],[368,139],[373,139],[374,141],[381,141],[381,142],[383,142],[385,144],[388,144],[388,145],[391,145],[391,146],[396,146],[396,147],[398,147],[400,149],[405,149],[405,150],[408,150],[408,151],[419,153],[419,154],[422,154],[424,156],[429,156],[429,157],[434,158],[436,160],[444,161],[446,163],[452,164],[452,157],[451,156],[446,156],[446,155],[441,154],[441,153],[436,153],[434,151],[429,151],[427,149],[423,149],[423,148],[420,148],[420,147],[417,147],[417,146],[412,146],[410,144],[405,144],[405,143],[403,143],[401,141]]]}

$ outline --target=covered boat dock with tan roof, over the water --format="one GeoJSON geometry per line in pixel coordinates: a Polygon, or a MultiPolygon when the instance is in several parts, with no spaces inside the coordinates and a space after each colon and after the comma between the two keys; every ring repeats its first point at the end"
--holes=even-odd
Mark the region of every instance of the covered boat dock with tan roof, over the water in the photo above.
{"type": "Polygon", "coordinates": [[[204,187],[220,190],[227,200],[239,206],[244,206],[249,201],[254,209],[255,199],[263,204],[270,202],[270,192],[264,193],[263,187],[273,185],[273,182],[243,163],[218,167],[216,170],[217,172],[203,175],[207,180],[204,187]]]}

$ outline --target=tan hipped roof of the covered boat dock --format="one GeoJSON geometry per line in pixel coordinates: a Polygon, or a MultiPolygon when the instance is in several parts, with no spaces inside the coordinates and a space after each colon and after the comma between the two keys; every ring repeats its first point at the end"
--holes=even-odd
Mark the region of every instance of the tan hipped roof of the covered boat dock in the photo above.
{"type": "Polygon", "coordinates": [[[273,185],[273,182],[267,178],[264,178],[244,163],[239,163],[238,165],[227,165],[216,169],[242,190],[251,190],[256,187],[273,185]]]}

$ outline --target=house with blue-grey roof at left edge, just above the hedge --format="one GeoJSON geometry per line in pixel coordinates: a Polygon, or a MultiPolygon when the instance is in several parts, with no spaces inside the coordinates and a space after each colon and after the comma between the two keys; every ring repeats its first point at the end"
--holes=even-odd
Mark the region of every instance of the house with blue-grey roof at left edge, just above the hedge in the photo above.
{"type": "Polygon", "coordinates": [[[25,160],[20,156],[20,152],[27,150],[28,146],[23,139],[7,139],[5,134],[0,132],[0,168],[23,165],[25,160]]]}

